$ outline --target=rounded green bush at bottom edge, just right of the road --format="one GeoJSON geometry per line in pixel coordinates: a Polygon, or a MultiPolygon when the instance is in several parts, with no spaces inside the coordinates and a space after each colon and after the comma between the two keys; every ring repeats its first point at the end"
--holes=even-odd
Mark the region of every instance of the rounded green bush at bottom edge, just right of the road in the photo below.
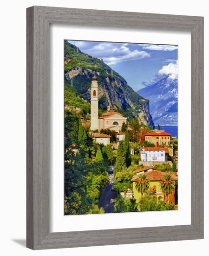
{"type": "Polygon", "coordinates": [[[134,199],[118,197],[114,204],[113,212],[137,212],[137,204],[134,199]]]}

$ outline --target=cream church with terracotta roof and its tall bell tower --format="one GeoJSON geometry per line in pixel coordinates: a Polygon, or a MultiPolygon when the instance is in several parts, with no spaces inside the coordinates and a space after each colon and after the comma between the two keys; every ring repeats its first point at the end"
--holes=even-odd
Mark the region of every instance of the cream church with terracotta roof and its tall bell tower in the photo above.
{"type": "Polygon", "coordinates": [[[112,111],[110,106],[107,111],[98,116],[98,82],[94,75],[91,81],[91,130],[110,129],[119,132],[123,122],[127,123],[127,118],[112,111]]]}

